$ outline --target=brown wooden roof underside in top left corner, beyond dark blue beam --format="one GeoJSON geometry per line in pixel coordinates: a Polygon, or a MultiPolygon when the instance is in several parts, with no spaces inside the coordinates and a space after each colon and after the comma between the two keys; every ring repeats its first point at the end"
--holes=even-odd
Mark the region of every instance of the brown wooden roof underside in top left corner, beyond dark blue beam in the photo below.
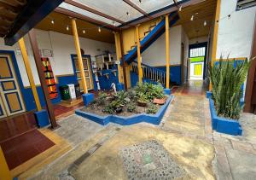
{"type": "Polygon", "coordinates": [[[0,37],[4,37],[12,26],[26,0],[0,0],[0,37]]]}

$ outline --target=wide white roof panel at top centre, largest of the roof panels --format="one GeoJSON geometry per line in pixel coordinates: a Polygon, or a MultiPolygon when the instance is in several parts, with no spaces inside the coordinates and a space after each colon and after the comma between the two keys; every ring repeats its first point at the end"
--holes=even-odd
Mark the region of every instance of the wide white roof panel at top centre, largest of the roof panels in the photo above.
{"type": "Polygon", "coordinates": [[[89,6],[92,9],[101,11],[106,15],[113,16],[116,19],[123,20],[125,22],[134,20],[142,14],[136,9],[133,9],[130,5],[122,0],[75,0],[78,3],[82,3],[89,6]],[[129,15],[126,15],[129,12],[129,15]]]}

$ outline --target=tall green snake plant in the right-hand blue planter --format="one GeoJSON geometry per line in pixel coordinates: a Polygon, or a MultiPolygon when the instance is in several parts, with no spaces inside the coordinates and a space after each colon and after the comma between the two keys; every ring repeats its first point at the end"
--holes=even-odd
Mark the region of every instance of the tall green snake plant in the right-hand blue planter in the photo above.
{"type": "Polygon", "coordinates": [[[212,99],[218,116],[239,119],[242,106],[241,85],[247,78],[251,61],[229,61],[220,57],[218,64],[208,66],[212,82],[212,99]]]}

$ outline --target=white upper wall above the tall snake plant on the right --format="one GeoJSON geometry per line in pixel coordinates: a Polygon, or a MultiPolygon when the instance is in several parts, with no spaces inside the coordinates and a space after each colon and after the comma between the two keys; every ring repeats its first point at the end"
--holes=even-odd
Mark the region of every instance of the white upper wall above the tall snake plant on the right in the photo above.
{"type": "Polygon", "coordinates": [[[236,11],[237,0],[221,1],[217,58],[249,57],[253,40],[256,7],[236,11]],[[227,15],[231,15],[230,19],[227,15]]]}

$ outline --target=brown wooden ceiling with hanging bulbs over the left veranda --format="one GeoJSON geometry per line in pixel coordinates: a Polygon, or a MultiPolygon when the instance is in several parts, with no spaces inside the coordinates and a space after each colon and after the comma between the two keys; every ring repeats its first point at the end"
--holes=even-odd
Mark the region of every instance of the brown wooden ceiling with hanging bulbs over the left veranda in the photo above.
{"type": "MultiPolygon", "coordinates": [[[[76,21],[79,37],[90,38],[106,43],[114,43],[113,32],[110,30],[101,28],[101,32],[98,32],[98,26],[84,20],[76,21]],[[83,31],[85,31],[85,33],[83,33],[83,31]]],[[[56,12],[49,14],[38,24],[38,26],[36,26],[36,28],[45,31],[61,32],[63,34],[73,35],[71,18],[67,15],[62,15],[56,12]],[[51,20],[54,20],[54,24],[51,23],[51,20]],[[67,26],[69,27],[68,31],[67,26]]]]}

